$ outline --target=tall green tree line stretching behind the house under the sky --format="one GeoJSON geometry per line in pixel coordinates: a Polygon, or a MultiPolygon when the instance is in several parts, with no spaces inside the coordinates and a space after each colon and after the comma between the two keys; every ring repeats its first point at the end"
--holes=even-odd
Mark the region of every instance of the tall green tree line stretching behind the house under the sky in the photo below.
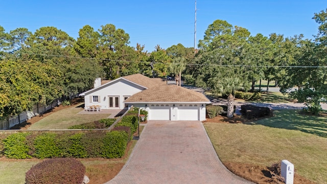
{"type": "Polygon", "coordinates": [[[296,86],[291,96],[319,110],[327,94],[326,12],[314,14],[319,24],[314,40],[276,33],[251,36],[247,29],[218,19],[208,26],[199,49],[179,43],[166,50],[157,45],[152,52],[138,43],[130,46],[129,34],[112,24],[98,30],[86,25],[76,40],[55,27],[32,33],[26,28],[5,32],[0,26],[0,116],[78,94],[98,77],[135,73],[183,77],[229,96],[231,103],[235,90],[254,90],[254,83],[264,79],[268,91],[274,80],[283,93],[296,86]]]}

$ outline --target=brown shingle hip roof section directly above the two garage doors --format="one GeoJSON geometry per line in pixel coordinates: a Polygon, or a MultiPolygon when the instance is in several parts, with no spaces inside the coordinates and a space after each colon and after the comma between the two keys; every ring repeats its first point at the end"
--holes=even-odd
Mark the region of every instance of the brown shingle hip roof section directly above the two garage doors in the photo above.
{"type": "Polygon", "coordinates": [[[126,103],[140,102],[203,102],[210,101],[201,93],[177,85],[158,85],[125,100],[126,103]]]}

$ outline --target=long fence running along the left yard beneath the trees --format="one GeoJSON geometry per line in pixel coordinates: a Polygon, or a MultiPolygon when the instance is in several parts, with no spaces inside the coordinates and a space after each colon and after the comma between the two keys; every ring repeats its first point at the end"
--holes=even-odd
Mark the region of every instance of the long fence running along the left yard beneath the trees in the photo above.
{"type": "Polygon", "coordinates": [[[50,105],[35,104],[31,111],[22,112],[17,116],[4,117],[3,119],[0,120],[0,130],[7,130],[17,124],[24,123],[27,120],[31,119],[32,117],[35,117],[45,111],[48,111],[48,110],[60,105],[62,101],[63,100],[61,100],[61,99],[56,99],[50,105]]]}

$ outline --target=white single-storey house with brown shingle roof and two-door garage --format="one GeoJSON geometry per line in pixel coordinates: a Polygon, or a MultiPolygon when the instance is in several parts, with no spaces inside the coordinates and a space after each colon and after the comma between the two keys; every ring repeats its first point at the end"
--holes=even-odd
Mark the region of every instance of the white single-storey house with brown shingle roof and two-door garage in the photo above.
{"type": "Polygon", "coordinates": [[[211,103],[203,94],[159,78],[134,74],[112,80],[88,90],[85,106],[124,109],[132,105],[148,111],[148,120],[205,120],[205,105],[211,103]]]}

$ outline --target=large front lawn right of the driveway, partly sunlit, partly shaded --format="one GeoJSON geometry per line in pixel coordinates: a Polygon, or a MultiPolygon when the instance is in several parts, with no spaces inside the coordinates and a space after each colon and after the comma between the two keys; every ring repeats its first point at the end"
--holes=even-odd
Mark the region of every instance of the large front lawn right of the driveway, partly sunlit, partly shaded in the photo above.
{"type": "Polygon", "coordinates": [[[270,166],[283,159],[296,172],[327,183],[327,118],[297,110],[275,111],[275,117],[248,124],[205,123],[222,162],[270,166]]]}

